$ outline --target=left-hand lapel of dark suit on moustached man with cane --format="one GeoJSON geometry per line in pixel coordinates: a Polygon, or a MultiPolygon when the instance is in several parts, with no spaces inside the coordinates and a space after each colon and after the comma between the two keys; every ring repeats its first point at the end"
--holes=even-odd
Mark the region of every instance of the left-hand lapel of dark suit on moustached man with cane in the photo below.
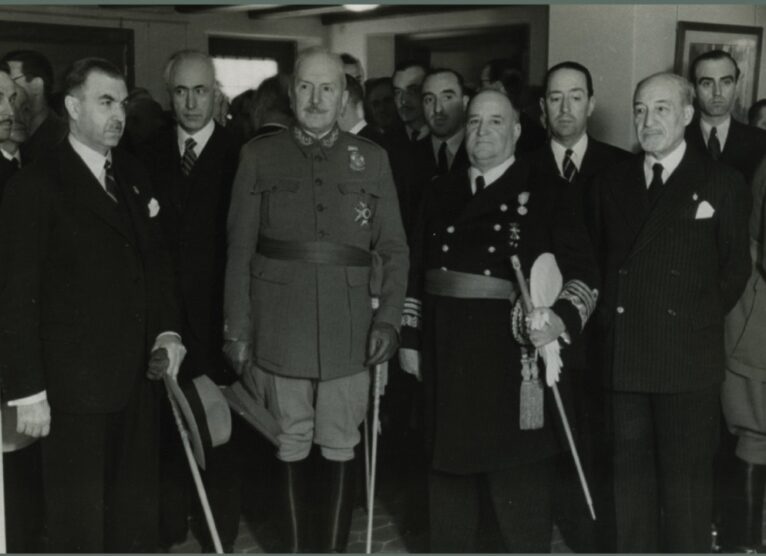
{"type": "MultiPolygon", "coordinates": [[[[74,151],[69,141],[62,142],[61,176],[74,188],[77,201],[106,222],[116,232],[131,240],[125,221],[120,217],[114,201],[91,173],[88,166],[74,151]]],[[[118,182],[119,183],[119,182],[118,182]]]]}

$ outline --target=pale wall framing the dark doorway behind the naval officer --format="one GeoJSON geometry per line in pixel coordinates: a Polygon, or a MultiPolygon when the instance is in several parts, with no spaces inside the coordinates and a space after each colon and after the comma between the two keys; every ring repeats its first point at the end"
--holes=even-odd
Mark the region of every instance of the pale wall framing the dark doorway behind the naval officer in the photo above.
{"type": "MultiPolygon", "coordinates": [[[[358,57],[370,77],[390,76],[394,71],[393,37],[423,31],[448,31],[473,27],[529,24],[529,80],[539,84],[545,74],[548,51],[548,6],[468,8],[438,16],[390,17],[329,26],[329,48],[358,57]]],[[[496,57],[502,57],[497,53],[496,57]]],[[[466,76],[470,77],[470,76],[466,76]]]]}

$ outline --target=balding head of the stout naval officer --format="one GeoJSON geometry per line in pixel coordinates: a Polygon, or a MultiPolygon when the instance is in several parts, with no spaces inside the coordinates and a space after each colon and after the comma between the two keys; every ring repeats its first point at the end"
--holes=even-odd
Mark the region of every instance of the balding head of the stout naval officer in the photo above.
{"type": "Polygon", "coordinates": [[[519,114],[506,95],[486,90],[471,100],[465,146],[472,166],[481,172],[499,166],[513,156],[520,136],[519,114]]]}

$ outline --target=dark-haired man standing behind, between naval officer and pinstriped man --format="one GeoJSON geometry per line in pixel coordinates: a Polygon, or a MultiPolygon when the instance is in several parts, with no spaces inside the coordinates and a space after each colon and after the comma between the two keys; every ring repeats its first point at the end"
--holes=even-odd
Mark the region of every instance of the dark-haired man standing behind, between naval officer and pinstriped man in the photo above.
{"type": "MultiPolygon", "coordinates": [[[[574,193],[574,198],[584,203],[584,193],[594,176],[630,155],[588,134],[588,119],[596,107],[593,78],[588,68],[577,62],[561,62],[548,70],[544,85],[545,96],[540,99],[540,107],[550,139],[529,155],[529,162],[539,181],[567,190],[567,194],[574,193]]],[[[573,381],[576,391],[572,417],[577,422],[580,457],[586,474],[593,478],[591,488],[596,506],[600,508],[599,519],[594,523],[582,502],[572,460],[563,459],[556,523],[567,545],[576,552],[600,552],[608,548],[609,542],[607,524],[611,512],[605,509],[609,497],[604,400],[597,372],[598,358],[593,353],[600,343],[594,342],[592,336],[592,327],[588,327],[582,341],[568,350],[564,360],[567,378],[573,381]]]]}

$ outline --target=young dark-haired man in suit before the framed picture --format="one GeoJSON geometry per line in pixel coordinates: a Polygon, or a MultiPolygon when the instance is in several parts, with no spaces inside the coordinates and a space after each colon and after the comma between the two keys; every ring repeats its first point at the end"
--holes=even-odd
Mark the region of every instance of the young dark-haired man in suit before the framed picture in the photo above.
{"type": "Polygon", "coordinates": [[[739,76],[739,66],[728,52],[710,50],[695,58],[689,77],[699,112],[686,128],[686,141],[713,160],[736,168],[750,182],[766,155],[766,131],[732,117],[739,76]]]}

